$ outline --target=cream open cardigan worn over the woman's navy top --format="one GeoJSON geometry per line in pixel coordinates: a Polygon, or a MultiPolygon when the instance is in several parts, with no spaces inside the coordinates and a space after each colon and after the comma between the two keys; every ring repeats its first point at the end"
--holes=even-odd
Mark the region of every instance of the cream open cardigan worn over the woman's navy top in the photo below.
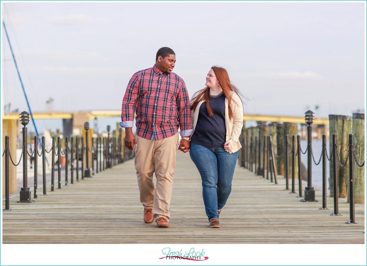
{"type": "MultiPolygon", "coordinates": [[[[226,141],[229,141],[230,145],[232,146],[232,151],[229,153],[237,152],[237,150],[241,149],[241,143],[238,140],[241,130],[243,127],[243,105],[241,98],[234,92],[231,91],[232,101],[231,101],[231,108],[233,112],[232,119],[229,119],[228,114],[228,99],[225,99],[225,122],[226,122],[226,141]]],[[[196,95],[192,97],[195,98],[196,95]]],[[[193,101],[190,101],[190,105],[192,105],[193,101]]],[[[200,101],[199,104],[196,106],[195,110],[191,110],[191,128],[194,129],[196,127],[197,118],[199,117],[199,109],[201,104],[204,102],[200,101]]],[[[194,131],[192,133],[194,133],[194,131]]]]}

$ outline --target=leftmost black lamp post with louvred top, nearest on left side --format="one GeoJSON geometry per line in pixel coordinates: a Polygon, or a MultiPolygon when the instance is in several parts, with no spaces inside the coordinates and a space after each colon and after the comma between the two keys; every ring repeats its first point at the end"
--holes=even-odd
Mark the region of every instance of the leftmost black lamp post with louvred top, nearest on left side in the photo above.
{"type": "MultiPolygon", "coordinates": [[[[20,114],[21,124],[23,125],[23,187],[19,192],[20,199],[17,202],[34,202],[31,200],[32,194],[28,187],[28,176],[27,176],[27,128],[26,125],[29,123],[29,113],[22,112],[20,114]]],[[[36,156],[36,154],[34,155],[36,156]]]]}

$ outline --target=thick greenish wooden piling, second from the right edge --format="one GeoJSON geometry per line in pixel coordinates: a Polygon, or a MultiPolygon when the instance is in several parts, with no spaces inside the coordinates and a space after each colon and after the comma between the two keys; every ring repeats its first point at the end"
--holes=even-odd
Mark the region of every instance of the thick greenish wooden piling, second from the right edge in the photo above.
{"type": "MultiPolygon", "coordinates": [[[[348,154],[348,135],[352,132],[352,117],[342,116],[338,114],[329,114],[329,134],[337,134],[337,146],[339,159],[342,164],[346,161],[348,154]]],[[[333,138],[330,138],[329,154],[333,150],[333,138]]],[[[316,156],[316,154],[314,154],[316,156]]],[[[333,154],[336,156],[336,154],[333,154]]],[[[350,158],[350,156],[349,156],[350,158]]],[[[339,164],[339,163],[338,163],[339,164]]],[[[333,160],[330,160],[330,175],[329,175],[329,189],[330,197],[334,197],[334,181],[333,181],[333,160]]],[[[337,165],[338,176],[338,197],[345,198],[348,195],[348,181],[349,181],[349,164],[345,167],[337,165]]]]}

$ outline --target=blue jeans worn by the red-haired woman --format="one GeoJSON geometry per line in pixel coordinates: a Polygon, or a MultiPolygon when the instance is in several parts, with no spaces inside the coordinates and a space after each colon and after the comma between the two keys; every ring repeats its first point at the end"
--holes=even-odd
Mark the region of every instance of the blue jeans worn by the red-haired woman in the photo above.
{"type": "Polygon", "coordinates": [[[201,175],[203,200],[208,219],[219,218],[218,209],[226,204],[232,190],[238,152],[190,144],[190,157],[201,175]]]}

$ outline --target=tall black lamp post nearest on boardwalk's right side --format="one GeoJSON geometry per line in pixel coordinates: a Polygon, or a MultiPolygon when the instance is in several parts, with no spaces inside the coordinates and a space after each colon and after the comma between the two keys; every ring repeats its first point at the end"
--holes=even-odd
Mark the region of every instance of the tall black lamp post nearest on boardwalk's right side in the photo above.
{"type": "Polygon", "coordinates": [[[301,201],[318,201],[315,200],[315,190],[312,187],[312,127],[313,123],[313,112],[308,110],[305,113],[305,120],[308,124],[307,126],[307,186],[305,187],[305,198],[301,201]]]}

